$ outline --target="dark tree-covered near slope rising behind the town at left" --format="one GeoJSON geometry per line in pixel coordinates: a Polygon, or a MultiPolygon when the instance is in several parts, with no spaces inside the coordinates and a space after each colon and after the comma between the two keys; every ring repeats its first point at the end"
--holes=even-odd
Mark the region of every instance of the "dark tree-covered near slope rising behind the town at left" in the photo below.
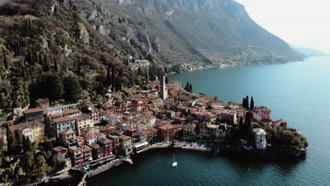
{"type": "Polygon", "coordinates": [[[114,82],[140,84],[121,61],[123,54],[90,27],[77,6],[62,0],[7,1],[0,6],[0,117],[40,97],[97,101],[114,82]],[[107,67],[114,68],[108,70],[111,80],[107,67]]]}

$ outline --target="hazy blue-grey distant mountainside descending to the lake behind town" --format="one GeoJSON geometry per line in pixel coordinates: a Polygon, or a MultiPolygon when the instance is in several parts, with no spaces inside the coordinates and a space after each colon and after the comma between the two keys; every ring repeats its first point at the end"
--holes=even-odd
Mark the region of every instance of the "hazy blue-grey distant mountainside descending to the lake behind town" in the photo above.
{"type": "Polygon", "coordinates": [[[239,66],[301,58],[233,0],[79,0],[75,4],[99,33],[127,55],[153,58],[163,66],[239,66]]]}

